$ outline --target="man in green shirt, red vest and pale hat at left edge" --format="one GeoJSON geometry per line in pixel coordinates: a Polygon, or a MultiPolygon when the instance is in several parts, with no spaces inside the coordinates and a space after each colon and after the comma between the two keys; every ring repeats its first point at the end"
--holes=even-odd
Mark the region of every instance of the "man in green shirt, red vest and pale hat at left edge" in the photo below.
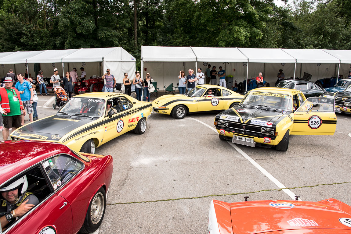
{"type": "Polygon", "coordinates": [[[11,77],[5,78],[5,88],[0,88],[0,112],[2,113],[2,122],[4,130],[2,137],[7,140],[9,130],[16,130],[21,124],[21,110],[26,114],[26,110],[22,105],[21,95],[19,91],[12,87],[13,81],[11,77]]]}

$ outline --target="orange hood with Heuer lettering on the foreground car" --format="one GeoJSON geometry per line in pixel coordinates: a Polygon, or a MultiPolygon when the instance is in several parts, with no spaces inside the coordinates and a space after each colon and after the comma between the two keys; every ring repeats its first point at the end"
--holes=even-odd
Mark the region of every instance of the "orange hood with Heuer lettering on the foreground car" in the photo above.
{"type": "Polygon", "coordinates": [[[233,230],[237,231],[236,234],[271,233],[273,231],[276,231],[273,233],[279,234],[347,233],[351,231],[351,227],[339,221],[340,218],[351,218],[350,214],[320,202],[253,201],[231,203],[230,213],[233,230]],[[329,229],[329,232],[326,230],[323,232],[323,229],[329,229]],[[331,232],[332,229],[344,230],[331,232]],[[287,230],[293,231],[287,232],[287,230]]]}

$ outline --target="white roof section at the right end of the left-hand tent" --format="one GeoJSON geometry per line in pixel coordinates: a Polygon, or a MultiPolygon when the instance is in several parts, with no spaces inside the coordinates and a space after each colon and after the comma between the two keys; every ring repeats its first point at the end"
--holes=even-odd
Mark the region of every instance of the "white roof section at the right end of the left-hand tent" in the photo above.
{"type": "Polygon", "coordinates": [[[135,62],[135,58],[122,47],[79,49],[62,58],[62,62],[135,62]]]}

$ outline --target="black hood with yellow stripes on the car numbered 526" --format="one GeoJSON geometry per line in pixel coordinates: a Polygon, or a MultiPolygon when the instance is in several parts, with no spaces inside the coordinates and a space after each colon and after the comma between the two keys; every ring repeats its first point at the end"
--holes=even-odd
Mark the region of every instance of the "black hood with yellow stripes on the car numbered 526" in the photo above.
{"type": "MultiPolygon", "coordinates": [[[[246,124],[275,128],[275,126],[290,113],[291,111],[278,112],[261,108],[245,108],[239,105],[219,113],[218,117],[223,119],[225,115],[233,116],[234,118],[238,117],[237,122],[239,123],[243,121],[243,123],[246,124]]],[[[228,120],[231,119],[229,118],[228,120]]]]}

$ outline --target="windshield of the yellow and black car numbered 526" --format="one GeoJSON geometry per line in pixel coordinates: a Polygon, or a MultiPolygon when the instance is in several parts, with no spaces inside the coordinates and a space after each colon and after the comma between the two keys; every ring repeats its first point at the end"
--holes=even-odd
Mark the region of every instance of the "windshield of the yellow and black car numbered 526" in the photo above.
{"type": "Polygon", "coordinates": [[[240,105],[250,104],[259,108],[263,105],[277,110],[291,111],[291,96],[284,94],[272,94],[266,92],[249,92],[240,105]]]}

